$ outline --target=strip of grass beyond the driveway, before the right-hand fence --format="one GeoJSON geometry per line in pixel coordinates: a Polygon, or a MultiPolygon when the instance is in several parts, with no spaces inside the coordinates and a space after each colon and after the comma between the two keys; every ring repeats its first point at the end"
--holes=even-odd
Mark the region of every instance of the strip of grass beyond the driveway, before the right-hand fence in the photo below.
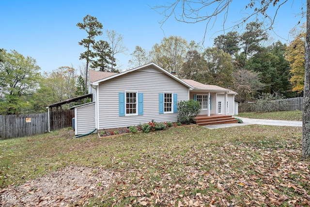
{"type": "Polygon", "coordinates": [[[276,111],[276,112],[244,112],[238,116],[253,119],[274,119],[288,121],[302,121],[302,111],[276,111]]]}

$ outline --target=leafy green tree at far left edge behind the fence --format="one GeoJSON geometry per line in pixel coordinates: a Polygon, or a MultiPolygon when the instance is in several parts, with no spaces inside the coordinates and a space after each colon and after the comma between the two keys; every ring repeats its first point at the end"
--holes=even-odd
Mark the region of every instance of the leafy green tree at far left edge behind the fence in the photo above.
{"type": "Polygon", "coordinates": [[[0,114],[18,114],[30,107],[27,96],[35,93],[40,67],[16,50],[0,51],[0,114]]]}

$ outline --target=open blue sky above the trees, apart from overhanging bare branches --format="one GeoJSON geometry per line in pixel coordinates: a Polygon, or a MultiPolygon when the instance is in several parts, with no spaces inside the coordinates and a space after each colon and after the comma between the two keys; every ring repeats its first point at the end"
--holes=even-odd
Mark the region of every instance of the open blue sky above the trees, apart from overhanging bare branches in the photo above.
{"type": "MultiPolygon", "coordinates": [[[[282,43],[289,43],[289,31],[300,20],[296,15],[301,12],[304,1],[289,1],[280,9],[274,25],[280,37],[271,33],[274,41],[279,39],[282,43]]],[[[137,45],[149,51],[155,43],[171,35],[181,36],[188,42],[202,42],[204,22],[186,24],[171,18],[161,28],[158,22],[163,16],[151,7],[166,2],[169,0],[1,0],[0,48],[15,49],[24,56],[31,56],[42,71],[71,65],[78,69],[83,63],[79,54],[85,51],[78,42],[86,38],[86,32],[79,30],[76,24],[82,22],[84,16],[91,15],[103,24],[103,31],[114,30],[124,36],[127,54],[116,58],[117,64],[125,70],[131,59],[130,53],[137,45]]],[[[235,0],[234,3],[229,10],[227,25],[239,20],[247,11],[242,10],[244,0],[235,0]]],[[[213,39],[223,33],[218,32],[222,23],[222,17],[218,16],[214,27],[206,32],[204,47],[212,47],[213,39]]],[[[107,40],[104,35],[99,39],[107,40]]]]}

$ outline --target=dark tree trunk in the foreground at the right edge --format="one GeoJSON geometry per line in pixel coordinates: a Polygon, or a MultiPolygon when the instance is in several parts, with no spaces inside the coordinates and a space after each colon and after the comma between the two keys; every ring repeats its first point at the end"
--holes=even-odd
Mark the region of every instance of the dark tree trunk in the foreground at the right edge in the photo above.
{"type": "Polygon", "coordinates": [[[307,33],[305,44],[305,88],[302,116],[302,156],[310,157],[310,0],[307,0],[307,33]]]}

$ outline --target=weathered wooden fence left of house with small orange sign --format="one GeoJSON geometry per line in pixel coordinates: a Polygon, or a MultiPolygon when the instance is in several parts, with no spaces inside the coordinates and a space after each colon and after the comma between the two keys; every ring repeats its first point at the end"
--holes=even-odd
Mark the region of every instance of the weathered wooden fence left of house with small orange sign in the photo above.
{"type": "MultiPolygon", "coordinates": [[[[74,110],[50,111],[50,130],[72,127],[74,110]]],[[[43,134],[48,131],[48,113],[0,115],[0,140],[43,134]]]]}

